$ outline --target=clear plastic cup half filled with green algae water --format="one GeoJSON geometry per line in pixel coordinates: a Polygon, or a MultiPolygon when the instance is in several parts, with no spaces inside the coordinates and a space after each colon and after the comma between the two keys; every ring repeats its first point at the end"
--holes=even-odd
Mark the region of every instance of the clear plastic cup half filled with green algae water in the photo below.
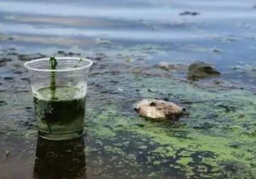
{"type": "Polygon", "coordinates": [[[91,60],[59,57],[55,70],[50,58],[28,61],[39,136],[69,140],[84,133],[87,79],[91,60]]]}

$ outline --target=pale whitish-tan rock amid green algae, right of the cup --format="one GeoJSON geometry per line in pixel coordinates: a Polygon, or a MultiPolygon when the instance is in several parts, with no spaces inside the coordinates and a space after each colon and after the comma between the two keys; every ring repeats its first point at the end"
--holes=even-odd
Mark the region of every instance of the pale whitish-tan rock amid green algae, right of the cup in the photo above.
{"type": "Polygon", "coordinates": [[[143,99],[136,104],[135,110],[137,110],[141,116],[151,119],[178,120],[185,109],[164,100],[143,99]]]}

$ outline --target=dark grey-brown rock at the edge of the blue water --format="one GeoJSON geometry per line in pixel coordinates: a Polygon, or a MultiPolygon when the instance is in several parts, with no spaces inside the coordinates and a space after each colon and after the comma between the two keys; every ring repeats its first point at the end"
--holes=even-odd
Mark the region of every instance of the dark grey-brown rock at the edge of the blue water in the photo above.
{"type": "Polygon", "coordinates": [[[212,64],[205,62],[192,63],[188,67],[186,74],[188,80],[199,80],[218,75],[220,75],[220,72],[218,72],[212,64]]]}

